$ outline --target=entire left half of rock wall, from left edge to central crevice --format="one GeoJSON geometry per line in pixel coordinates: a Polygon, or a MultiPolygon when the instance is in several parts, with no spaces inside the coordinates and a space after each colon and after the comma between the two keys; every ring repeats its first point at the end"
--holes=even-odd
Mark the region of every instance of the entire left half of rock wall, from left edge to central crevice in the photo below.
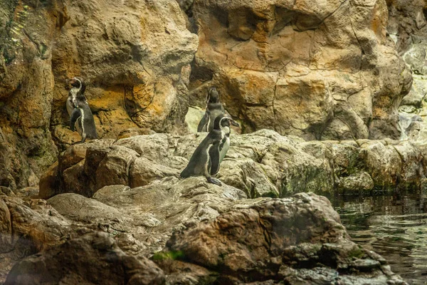
{"type": "Polygon", "coordinates": [[[2,1],[0,19],[0,185],[37,185],[57,147],[80,140],[68,128],[66,78],[88,82],[101,138],[186,131],[197,36],[176,2],[2,1]]]}

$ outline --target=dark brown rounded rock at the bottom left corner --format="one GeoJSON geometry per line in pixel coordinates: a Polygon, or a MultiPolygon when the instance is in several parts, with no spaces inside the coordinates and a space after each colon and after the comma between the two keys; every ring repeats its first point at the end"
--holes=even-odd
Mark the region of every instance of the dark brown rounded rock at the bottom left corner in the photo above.
{"type": "Polygon", "coordinates": [[[147,258],[122,252],[108,234],[96,232],[23,259],[5,284],[164,284],[147,258]]]}

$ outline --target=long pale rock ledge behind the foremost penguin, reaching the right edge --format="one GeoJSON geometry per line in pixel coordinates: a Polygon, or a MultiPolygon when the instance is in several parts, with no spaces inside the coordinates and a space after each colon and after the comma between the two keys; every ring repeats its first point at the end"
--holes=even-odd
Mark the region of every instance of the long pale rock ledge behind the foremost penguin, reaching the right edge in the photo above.
{"type": "MultiPolygon", "coordinates": [[[[93,197],[108,185],[144,187],[178,177],[205,136],[138,135],[73,145],[41,177],[39,197],[93,197]]],[[[396,140],[305,142],[259,130],[231,136],[218,178],[250,198],[418,191],[426,181],[421,147],[396,140]]]]}

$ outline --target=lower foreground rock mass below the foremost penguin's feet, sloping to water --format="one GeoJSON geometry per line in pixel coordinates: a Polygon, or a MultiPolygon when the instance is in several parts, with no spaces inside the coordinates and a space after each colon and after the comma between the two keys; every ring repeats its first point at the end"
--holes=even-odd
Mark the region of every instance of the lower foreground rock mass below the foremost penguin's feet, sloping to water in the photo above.
{"type": "Polygon", "coordinates": [[[349,240],[325,197],[241,199],[233,187],[173,180],[163,195],[115,185],[47,203],[1,196],[6,255],[19,241],[34,247],[5,284],[406,284],[349,240]]]}

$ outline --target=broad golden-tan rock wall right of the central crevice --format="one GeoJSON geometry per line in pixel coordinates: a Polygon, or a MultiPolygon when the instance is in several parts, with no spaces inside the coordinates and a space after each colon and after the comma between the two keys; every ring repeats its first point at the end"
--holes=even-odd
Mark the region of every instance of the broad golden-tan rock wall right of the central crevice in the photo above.
{"type": "Polygon", "coordinates": [[[386,1],[196,0],[191,13],[193,102],[217,86],[245,133],[399,138],[411,73],[387,36],[386,1]]]}

